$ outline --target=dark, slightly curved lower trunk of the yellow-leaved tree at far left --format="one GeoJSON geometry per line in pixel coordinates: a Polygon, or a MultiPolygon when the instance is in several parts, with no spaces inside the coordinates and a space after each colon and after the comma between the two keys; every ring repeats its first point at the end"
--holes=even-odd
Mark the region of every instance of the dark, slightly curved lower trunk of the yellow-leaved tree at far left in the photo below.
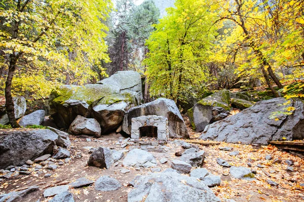
{"type": "Polygon", "coordinates": [[[10,66],[9,66],[8,76],[5,82],[5,99],[6,99],[5,107],[8,113],[10,124],[13,128],[20,127],[19,124],[17,124],[15,118],[15,107],[12,97],[12,80],[14,77],[15,65],[17,63],[18,58],[19,58],[18,55],[16,56],[15,53],[10,55],[10,66]]]}

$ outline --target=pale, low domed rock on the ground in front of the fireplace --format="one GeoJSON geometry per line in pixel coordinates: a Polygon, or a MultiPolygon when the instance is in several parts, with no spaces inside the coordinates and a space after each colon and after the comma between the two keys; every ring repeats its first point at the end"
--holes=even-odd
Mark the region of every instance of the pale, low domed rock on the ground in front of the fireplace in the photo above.
{"type": "Polygon", "coordinates": [[[155,157],[148,151],[134,148],[132,149],[123,161],[124,167],[153,167],[157,162],[155,157]]]}

